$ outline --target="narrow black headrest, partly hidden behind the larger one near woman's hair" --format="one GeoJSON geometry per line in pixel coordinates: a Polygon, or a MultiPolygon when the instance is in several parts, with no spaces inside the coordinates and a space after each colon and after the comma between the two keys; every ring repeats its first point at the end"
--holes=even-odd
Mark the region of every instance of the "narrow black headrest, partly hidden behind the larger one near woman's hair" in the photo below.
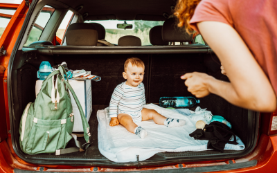
{"type": "Polygon", "coordinates": [[[149,39],[152,45],[168,45],[168,42],[163,41],[163,37],[161,37],[161,30],[163,26],[154,26],[149,31],[149,39]]]}

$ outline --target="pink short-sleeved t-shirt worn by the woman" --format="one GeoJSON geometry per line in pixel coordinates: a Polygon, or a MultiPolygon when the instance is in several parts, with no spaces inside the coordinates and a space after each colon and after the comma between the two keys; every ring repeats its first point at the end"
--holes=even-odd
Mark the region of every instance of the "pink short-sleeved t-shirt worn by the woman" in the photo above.
{"type": "Polygon", "coordinates": [[[200,21],[220,21],[235,28],[277,94],[277,1],[202,0],[190,20],[197,32],[200,21]]]}

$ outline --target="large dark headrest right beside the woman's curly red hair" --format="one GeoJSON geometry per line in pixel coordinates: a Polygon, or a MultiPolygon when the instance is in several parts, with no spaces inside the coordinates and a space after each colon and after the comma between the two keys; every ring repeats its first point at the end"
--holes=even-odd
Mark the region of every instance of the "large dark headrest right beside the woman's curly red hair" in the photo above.
{"type": "Polygon", "coordinates": [[[193,35],[186,33],[186,30],[177,26],[177,18],[167,19],[163,23],[162,37],[166,42],[190,42],[193,40],[193,35]]]}

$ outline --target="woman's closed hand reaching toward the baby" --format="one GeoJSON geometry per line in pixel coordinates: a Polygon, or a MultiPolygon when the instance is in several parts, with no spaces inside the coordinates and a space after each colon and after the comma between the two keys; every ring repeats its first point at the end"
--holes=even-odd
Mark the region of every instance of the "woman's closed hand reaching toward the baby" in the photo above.
{"type": "Polygon", "coordinates": [[[186,73],[181,76],[182,80],[185,81],[185,85],[188,86],[188,91],[195,95],[197,98],[203,98],[210,94],[208,90],[208,80],[214,79],[211,75],[206,73],[186,73]]]}

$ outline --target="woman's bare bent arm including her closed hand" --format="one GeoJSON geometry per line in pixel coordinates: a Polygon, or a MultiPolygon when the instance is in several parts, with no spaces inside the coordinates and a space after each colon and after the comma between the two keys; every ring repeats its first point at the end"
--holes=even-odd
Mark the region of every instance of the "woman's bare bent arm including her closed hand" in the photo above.
{"type": "Polygon", "coordinates": [[[203,73],[187,73],[181,78],[187,79],[185,84],[188,91],[195,93],[197,97],[211,92],[239,107],[274,111],[274,89],[236,30],[217,21],[202,21],[197,26],[205,41],[220,58],[231,83],[216,80],[203,73]]]}

